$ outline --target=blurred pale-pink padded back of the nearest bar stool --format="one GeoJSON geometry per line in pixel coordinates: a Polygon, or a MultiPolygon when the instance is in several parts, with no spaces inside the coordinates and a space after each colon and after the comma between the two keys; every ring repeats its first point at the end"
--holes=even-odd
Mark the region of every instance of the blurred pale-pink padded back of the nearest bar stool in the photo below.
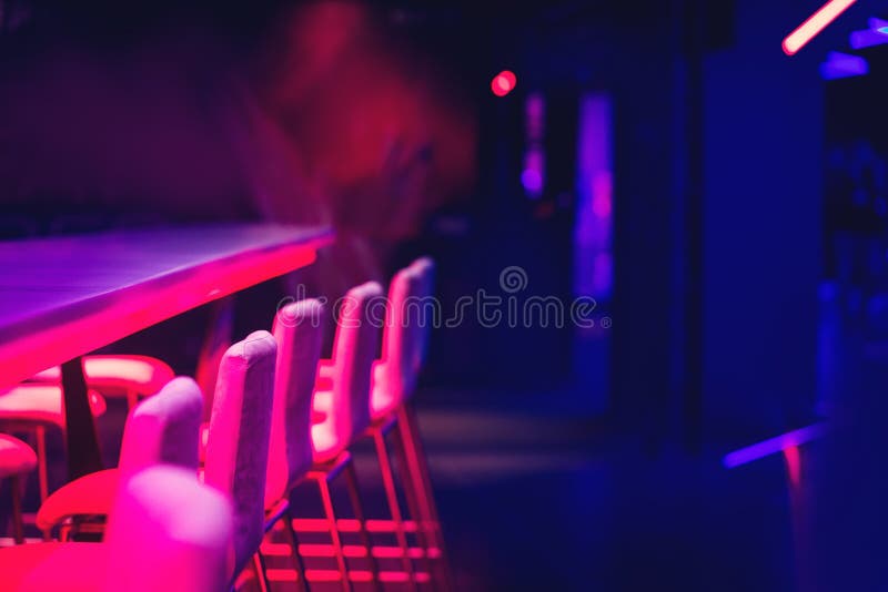
{"type": "Polygon", "coordinates": [[[193,470],[157,466],[134,473],[109,517],[101,590],[226,590],[231,538],[229,499],[200,484],[193,470]]]}

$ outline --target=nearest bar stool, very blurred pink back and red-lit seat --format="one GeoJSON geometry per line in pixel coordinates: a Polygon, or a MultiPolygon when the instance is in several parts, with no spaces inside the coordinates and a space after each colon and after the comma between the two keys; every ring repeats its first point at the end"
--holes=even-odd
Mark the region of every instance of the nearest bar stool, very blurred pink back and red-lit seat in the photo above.
{"type": "Polygon", "coordinates": [[[193,469],[155,466],[117,489],[101,543],[0,550],[8,592],[218,592],[229,582],[232,507],[193,469]]]}

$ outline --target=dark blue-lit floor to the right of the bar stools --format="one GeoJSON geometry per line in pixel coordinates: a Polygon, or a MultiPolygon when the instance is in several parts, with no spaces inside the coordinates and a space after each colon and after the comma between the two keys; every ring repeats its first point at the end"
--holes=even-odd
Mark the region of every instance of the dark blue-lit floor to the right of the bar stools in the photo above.
{"type": "Polygon", "coordinates": [[[794,588],[780,456],[727,471],[718,458],[650,456],[582,415],[427,398],[423,433],[460,590],[794,588]]]}

